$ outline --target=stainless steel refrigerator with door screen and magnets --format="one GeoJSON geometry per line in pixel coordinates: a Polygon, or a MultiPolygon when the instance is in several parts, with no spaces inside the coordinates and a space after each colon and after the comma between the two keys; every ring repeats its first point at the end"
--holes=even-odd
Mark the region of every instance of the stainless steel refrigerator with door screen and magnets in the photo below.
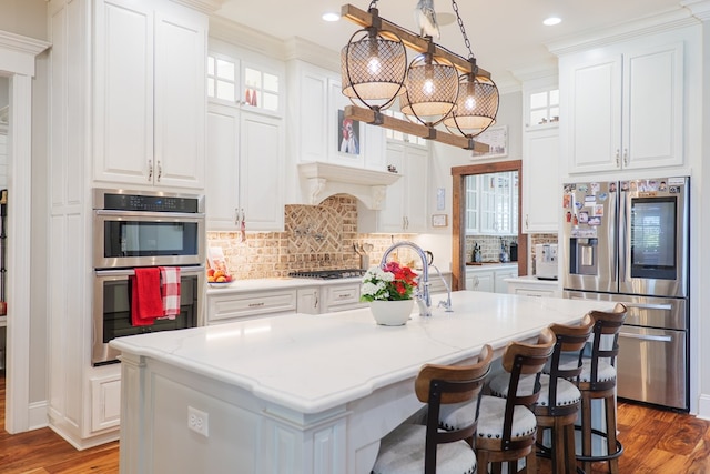
{"type": "MultiPolygon", "coordinates": [[[[565,184],[565,296],[622,302],[618,396],[689,410],[689,178],[565,184]]],[[[610,305],[611,307],[611,305],[610,305]]]]}

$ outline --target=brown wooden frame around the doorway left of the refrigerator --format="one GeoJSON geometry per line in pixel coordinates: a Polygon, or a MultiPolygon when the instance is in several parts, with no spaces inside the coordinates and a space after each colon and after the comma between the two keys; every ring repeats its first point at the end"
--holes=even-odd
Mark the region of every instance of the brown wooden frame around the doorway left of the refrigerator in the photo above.
{"type": "Polygon", "coordinates": [[[518,275],[528,274],[528,240],[523,233],[523,160],[499,161],[495,163],[466,164],[453,167],[453,209],[452,209],[452,290],[464,290],[466,281],[466,258],[464,250],[464,222],[466,208],[466,180],[469,174],[518,172],[518,275]]]}

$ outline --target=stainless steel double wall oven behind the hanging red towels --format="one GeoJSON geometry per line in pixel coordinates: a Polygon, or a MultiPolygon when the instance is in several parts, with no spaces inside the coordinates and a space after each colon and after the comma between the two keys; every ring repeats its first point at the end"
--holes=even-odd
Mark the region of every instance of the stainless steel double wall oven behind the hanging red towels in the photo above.
{"type": "Polygon", "coordinates": [[[109,346],[114,337],[202,324],[204,223],[202,195],[93,190],[94,365],[118,362],[109,346]],[[130,278],[146,266],[180,268],[180,314],[133,326],[130,278]]]}

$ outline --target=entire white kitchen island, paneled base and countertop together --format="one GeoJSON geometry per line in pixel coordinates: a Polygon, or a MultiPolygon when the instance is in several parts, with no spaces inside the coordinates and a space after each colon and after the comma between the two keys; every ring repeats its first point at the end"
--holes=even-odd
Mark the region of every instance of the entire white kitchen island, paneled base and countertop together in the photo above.
{"type": "Polygon", "coordinates": [[[609,303],[483,292],[453,313],[378,326],[368,309],[120,337],[122,473],[369,473],[422,407],[425,363],[500,353],[609,303]]]}

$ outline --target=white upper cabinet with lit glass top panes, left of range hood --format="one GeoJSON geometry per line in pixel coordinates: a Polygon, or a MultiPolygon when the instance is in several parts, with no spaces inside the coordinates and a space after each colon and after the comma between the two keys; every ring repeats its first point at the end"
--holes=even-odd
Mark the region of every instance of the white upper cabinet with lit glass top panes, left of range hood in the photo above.
{"type": "Polygon", "coordinates": [[[276,63],[210,54],[205,186],[210,231],[283,230],[283,75],[276,63]]]}

